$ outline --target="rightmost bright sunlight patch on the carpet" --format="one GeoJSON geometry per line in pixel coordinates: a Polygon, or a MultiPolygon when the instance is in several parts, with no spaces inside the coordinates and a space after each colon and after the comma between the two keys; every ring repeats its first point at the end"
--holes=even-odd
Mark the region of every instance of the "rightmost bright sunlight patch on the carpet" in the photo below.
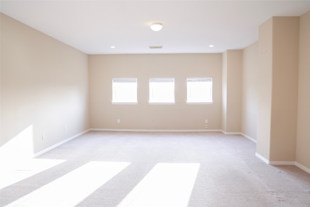
{"type": "Polygon", "coordinates": [[[200,163],[157,163],[118,207],[187,207],[200,163]]]}

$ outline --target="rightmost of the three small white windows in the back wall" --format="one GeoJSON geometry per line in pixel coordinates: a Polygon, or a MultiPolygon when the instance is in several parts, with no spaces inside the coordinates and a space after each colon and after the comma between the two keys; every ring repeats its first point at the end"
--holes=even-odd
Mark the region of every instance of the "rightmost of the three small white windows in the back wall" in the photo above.
{"type": "Polygon", "coordinates": [[[212,78],[187,78],[187,103],[212,104],[212,78]]]}

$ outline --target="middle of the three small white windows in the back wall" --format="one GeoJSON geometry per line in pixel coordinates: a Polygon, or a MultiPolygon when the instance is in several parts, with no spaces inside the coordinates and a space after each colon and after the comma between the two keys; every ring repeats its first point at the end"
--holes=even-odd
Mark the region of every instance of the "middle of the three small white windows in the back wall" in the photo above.
{"type": "Polygon", "coordinates": [[[174,104],[174,78],[151,78],[150,104],[174,104]]]}

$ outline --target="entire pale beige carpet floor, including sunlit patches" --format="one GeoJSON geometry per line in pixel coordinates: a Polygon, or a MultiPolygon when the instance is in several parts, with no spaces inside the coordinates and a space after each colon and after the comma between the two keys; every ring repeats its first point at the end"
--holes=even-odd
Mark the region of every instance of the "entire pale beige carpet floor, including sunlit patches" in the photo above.
{"type": "Polygon", "coordinates": [[[221,132],[90,131],[1,169],[8,207],[310,207],[310,175],[221,132]]]}

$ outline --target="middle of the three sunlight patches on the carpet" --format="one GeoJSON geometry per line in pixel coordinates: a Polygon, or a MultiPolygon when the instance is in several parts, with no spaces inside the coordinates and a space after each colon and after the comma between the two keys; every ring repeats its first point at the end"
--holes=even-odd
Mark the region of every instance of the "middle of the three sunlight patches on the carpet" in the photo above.
{"type": "Polygon", "coordinates": [[[88,162],[7,207],[74,207],[129,164],[130,162],[88,162]]]}

